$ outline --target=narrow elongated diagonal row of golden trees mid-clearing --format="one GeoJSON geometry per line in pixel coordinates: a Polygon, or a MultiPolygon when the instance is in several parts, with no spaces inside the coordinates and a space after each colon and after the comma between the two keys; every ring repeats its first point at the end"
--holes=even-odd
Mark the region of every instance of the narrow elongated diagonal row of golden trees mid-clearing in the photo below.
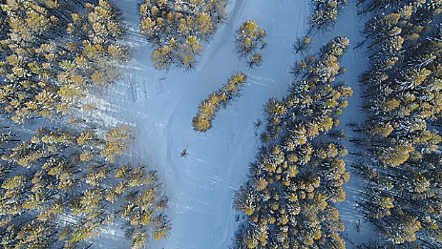
{"type": "Polygon", "coordinates": [[[247,75],[243,73],[234,73],[228,78],[219,90],[211,93],[198,106],[198,113],[192,120],[194,129],[198,132],[206,132],[212,127],[216,111],[221,107],[226,107],[235,97],[239,95],[239,91],[246,84],[247,75]]]}

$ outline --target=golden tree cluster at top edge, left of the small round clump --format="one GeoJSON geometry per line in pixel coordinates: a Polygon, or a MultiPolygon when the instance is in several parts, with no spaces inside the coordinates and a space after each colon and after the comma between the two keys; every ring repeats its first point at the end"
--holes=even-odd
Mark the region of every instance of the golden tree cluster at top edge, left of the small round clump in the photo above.
{"type": "Polygon", "coordinates": [[[191,69],[216,26],[223,22],[226,0],[144,0],[140,6],[141,33],[154,51],[159,69],[171,65],[191,69]]]}

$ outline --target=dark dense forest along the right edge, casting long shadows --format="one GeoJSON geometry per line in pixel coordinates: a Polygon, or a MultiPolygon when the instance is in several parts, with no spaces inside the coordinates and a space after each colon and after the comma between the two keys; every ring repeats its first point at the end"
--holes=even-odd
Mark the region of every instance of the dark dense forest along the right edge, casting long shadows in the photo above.
{"type": "Polygon", "coordinates": [[[375,15],[361,77],[367,121],[352,140],[367,180],[358,203],[385,239],[379,248],[441,248],[442,3],[390,2],[359,3],[375,15]]]}

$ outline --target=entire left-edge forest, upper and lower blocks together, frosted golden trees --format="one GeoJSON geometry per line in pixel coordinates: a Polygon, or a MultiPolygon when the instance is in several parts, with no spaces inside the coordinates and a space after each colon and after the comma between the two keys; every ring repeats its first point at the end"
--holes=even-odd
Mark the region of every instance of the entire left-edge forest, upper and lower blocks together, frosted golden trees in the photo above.
{"type": "Polygon", "coordinates": [[[156,173],[118,162],[134,134],[78,123],[100,108],[88,98],[117,80],[128,57],[115,6],[0,7],[0,248],[93,248],[118,225],[132,248],[167,237],[168,198],[156,173]],[[46,126],[34,132],[38,124],[46,126]]]}

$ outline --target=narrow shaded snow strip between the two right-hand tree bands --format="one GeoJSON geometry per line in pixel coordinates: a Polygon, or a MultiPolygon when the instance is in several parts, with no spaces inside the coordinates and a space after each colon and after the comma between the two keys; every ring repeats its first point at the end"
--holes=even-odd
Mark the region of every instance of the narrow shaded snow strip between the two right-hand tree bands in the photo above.
{"type": "MultiPolygon", "coordinates": [[[[367,16],[357,16],[356,3],[357,1],[350,0],[349,4],[342,10],[334,31],[332,33],[327,32],[322,36],[322,39],[327,37],[326,40],[330,36],[347,36],[351,41],[349,51],[342,56],[342,65],[344,68],[347,68],[347,73],[338,79],[346,82],[354,91],[353,96],[348,100],[349,106],[342,113],[340,127],[347,132],[347,139],[344,141],[344,144],[349,149],[349,152],[354,152],[354,144],[350,143],[349,140],[356,134],[354,134],[351,127],[347,127],[345,124],[362,123],[364,121],[364,113],[361,111],[361,96],[364,94],[359,87],[358,78],[361,73],[367,70],[366,68],[369,63],[366,46],[354,49],[360,41],[365,40],[362,31],[364,23],[367,21],[367,16]]],[[[346,238],[347,248],[349,249],[356,248],[355,245],[361,245],[361,243],[367,242],[372,237],[372,226],[364,221],[361,213],[357,210],[355,202],[359,200],[360,192],[364,190],[364,183],[357,176],[356,171],[351,168],[353,159],[351,154],[344,157],[351,177],[349,183],[344,185],[347,194],[346,201],[337,204],[340,217],[344,221],[344,238],[346,238]]]]}

